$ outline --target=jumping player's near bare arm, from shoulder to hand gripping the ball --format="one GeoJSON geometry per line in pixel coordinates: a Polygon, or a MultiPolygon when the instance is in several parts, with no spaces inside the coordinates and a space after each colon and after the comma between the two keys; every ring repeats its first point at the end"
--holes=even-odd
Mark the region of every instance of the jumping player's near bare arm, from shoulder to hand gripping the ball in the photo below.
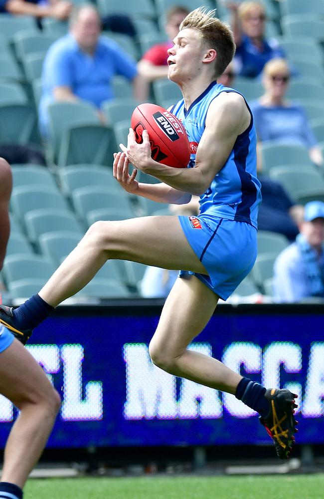
{"type": "Polygon", "coordinates": [[[223,92],[214,99],[197,149],[195,168],[171,168],[154,161],[147,132],[143,133],[143,143],[137,144],[134,132],[130,129],[127,148],[123,144],[120,147],[139,170],[174,189],[200,195],[224,166],[237,136],[248,128],[250,120],[250,113],[241,95],[223,92]]]}

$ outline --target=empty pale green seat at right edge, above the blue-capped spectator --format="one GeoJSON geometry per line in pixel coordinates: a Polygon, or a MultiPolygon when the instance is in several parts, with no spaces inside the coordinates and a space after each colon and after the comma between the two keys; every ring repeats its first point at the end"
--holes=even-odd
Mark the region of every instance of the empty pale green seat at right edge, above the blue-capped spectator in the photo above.
{"type": "Polygon", "coordinates": [[[292,199],[300,204],[324,200],[324,178],[315,169],[278,166],[270,170],[269,177],[282,184],[292,199]]]}

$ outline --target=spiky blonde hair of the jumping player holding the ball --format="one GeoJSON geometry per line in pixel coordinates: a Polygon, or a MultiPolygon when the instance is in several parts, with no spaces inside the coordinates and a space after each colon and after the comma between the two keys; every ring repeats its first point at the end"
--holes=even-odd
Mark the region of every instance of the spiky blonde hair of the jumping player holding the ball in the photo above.
{"type": "Polygon", "coordinates": [[[216,9],[198,7],[188,13],[179,30],[190,28],[199,32],[199,38],[206,46],[217,52],[215,62],[216,77],[222,74],[234,57],[236,45],[228,24],[215,17],[216,9]]]}

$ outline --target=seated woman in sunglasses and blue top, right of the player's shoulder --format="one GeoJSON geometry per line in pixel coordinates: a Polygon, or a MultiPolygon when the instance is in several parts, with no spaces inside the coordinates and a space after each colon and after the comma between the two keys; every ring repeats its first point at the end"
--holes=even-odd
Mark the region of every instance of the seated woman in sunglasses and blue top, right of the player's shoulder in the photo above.
{"type": "Polygon", "coordinates": [[[322,152],[303,107],[286,99],[289,79],[290,70],[285,59],[267,62],[262,80],[265,93],[250,103],[258,141],[306,146],[312,161],[322,165],[322,152]]]}

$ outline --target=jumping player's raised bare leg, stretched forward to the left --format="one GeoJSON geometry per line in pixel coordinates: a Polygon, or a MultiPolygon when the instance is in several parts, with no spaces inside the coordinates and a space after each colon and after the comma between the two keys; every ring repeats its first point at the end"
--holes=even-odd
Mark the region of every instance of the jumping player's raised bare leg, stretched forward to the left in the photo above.
{"type": "Polygon", "coordinates": [[[39,292],[56,307],[82,289],[110,258],[207,274],[177,217],[96,222],[39,292]]]}

